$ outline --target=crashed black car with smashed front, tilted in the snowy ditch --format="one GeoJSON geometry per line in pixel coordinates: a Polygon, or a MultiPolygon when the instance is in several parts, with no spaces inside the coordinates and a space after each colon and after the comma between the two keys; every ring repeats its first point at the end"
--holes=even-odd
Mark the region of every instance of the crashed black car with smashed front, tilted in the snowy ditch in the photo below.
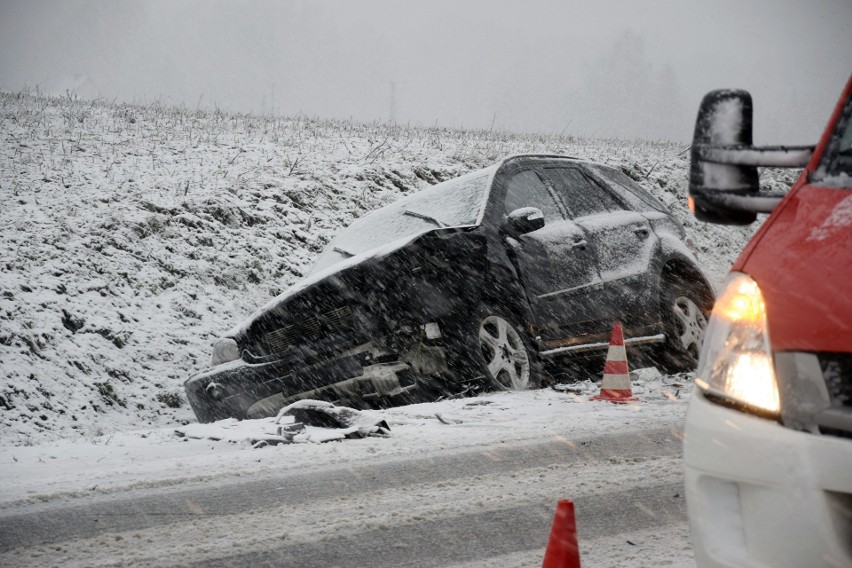
{"type": "Polygon", "coordinates": [[[712,288],[666,208],[621,171],[511,156],[340,231],[312,272],[219,339],[198,420],[302,398],[387,406],[538,386],[542,362],[625,343],[697,363],[712,288]]]}

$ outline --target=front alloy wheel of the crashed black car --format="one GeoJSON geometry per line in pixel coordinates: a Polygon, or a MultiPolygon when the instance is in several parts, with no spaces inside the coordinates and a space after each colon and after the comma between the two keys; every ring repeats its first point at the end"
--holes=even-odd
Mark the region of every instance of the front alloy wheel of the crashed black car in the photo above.
{"type": "Polygon", "coordinates": [[[479,351],[495,387],[526,390],[532,365],[518,331],[501,316],[490,315],[479,324],[479,351]]]}

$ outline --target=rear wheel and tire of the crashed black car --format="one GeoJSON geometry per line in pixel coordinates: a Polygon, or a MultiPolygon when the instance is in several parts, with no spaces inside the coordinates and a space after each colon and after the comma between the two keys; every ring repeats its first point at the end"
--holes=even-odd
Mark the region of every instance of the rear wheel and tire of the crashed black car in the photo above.
{"type": "Polygon", "coordinates": [[[664,282],[660,308],[666,339],[655,357],[661,372],[672,374],[696,369],[712,297],[703,287],[690,286],[677,278],[664,282]]]}

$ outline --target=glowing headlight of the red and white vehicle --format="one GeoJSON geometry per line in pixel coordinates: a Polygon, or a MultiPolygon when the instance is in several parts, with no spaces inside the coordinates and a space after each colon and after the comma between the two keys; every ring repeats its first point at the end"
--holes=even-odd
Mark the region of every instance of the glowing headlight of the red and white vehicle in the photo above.
{"type": "Polygon", "coordinates": [[[720,402],[778,416],[766,304],[760,287],[745,274],[728,277],[713,307],[695,377],[695,384],[720,402]]]}

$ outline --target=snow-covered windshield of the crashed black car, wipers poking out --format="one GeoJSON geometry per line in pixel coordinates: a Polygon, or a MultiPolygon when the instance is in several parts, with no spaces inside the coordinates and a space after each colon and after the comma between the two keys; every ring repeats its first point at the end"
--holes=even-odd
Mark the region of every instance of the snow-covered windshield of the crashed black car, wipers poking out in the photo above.
{"type": "Polygon", "coordinates": [[[496,166],[439,183],[364,215],[325,247],[311,273],[430,229],[475,225],[496,166]]]}

